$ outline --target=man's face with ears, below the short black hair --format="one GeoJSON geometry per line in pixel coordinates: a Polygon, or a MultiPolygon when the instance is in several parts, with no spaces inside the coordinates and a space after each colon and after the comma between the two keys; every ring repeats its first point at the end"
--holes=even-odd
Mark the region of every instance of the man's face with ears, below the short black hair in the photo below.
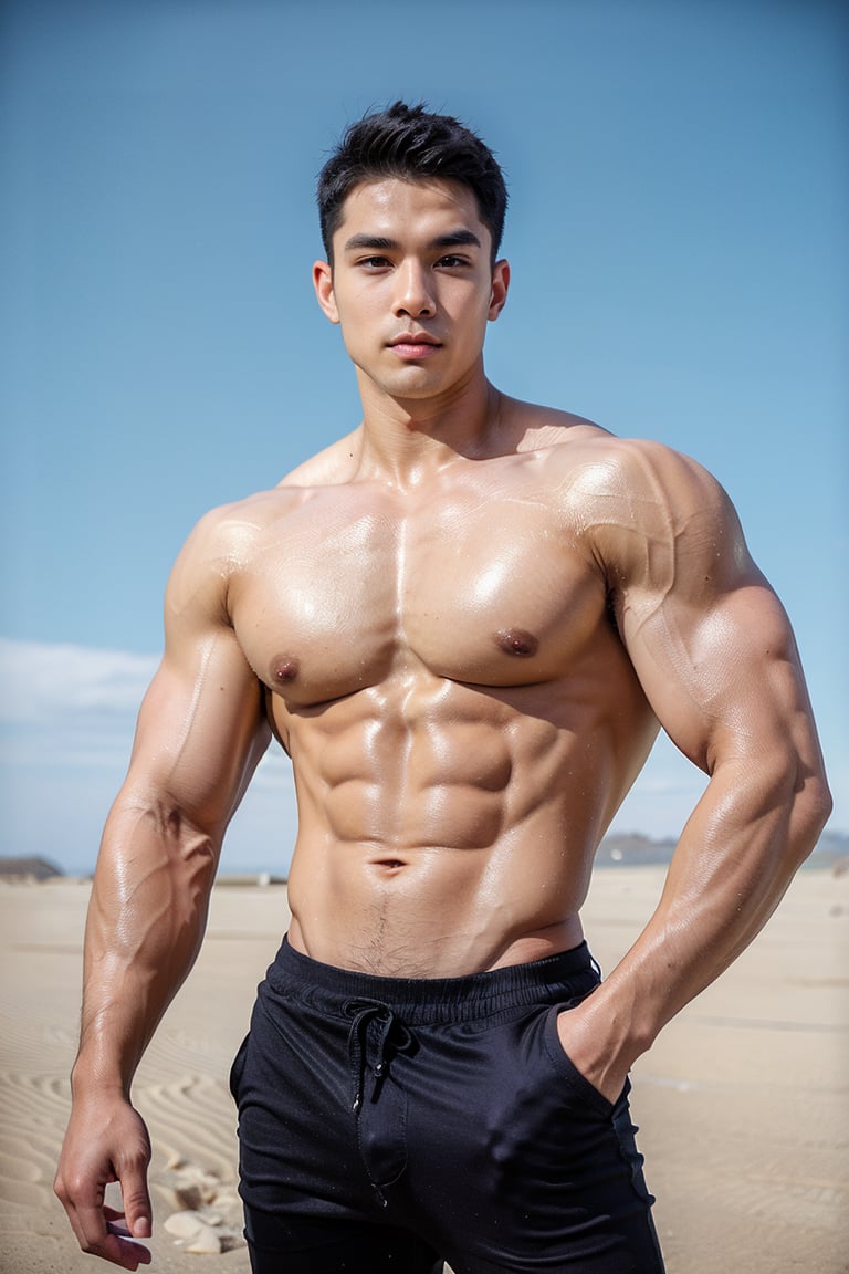
{"type": "Polygon", "coordinates": [[[332,270],[318,261],[313,278],[363,387],[365,377],[392,397],[428,399],[468,383],[507,297],[508,265],[491,268],[490,256],[466,186],[392,177],[354,187],[332,270]]]}

